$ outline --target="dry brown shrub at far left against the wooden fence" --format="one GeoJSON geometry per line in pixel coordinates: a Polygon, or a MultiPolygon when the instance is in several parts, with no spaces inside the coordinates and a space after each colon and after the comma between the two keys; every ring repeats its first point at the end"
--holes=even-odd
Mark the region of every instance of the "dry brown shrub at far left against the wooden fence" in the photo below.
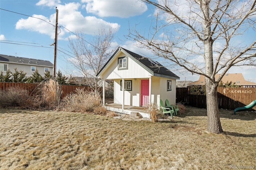
{"type": "Polygon", "coordinates": [[[10,87],[0,90],[0,107],[28,107],[28,91],[21,88],[10,87]]]}

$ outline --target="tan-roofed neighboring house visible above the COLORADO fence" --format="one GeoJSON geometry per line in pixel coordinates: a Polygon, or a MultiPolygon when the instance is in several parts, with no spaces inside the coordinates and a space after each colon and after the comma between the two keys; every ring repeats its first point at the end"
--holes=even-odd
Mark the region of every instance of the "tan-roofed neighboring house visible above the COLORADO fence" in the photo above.
{"type": "MultiPolygon", "coordinates": [[[[215,79],[218,79],[218,77],[220,77],[220,74],[215,75],[215,79]]],[[[221,81],[224,84],[232,81],[232,83],[235,83],[235,85],[241,85],[242,87],[256,87],[256,83],[246,81],[242,73],[226,73],[221,81]]],[[[198,81],[189,83],[189,85],[205,85],[204,76],[200,75],[198,81]]]]}

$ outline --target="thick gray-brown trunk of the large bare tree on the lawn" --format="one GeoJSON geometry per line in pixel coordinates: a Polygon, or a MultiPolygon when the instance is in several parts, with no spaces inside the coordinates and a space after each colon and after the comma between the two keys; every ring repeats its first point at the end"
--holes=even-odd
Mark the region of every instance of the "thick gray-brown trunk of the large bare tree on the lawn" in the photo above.
{"type": "Polygon", "coordinates": [[[220,115],[217,99],[217,85],[205,78],[206,85],[206,104],[207,104],[207,130],[212,133],[220,134],[223,132],[220,124],[220,115]]]}

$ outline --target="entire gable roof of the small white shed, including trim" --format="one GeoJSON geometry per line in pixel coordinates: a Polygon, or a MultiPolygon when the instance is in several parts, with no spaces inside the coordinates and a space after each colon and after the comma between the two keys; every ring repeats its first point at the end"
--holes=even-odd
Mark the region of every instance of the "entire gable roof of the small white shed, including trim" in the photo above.
{"type": "Polygon", "coordinates": [[[98,76],[107,67],[108,63],[110,63],[110,61],[114,58],[116,53],[121,49],[124,50],[126,53],[128,53],[128,55],[130,55],[130,57],[132,57],[134,59],[134,61],[136,61],[139,65],[144,67],[144,69],[150,71],[154,76],[180,79],[180,77],[178,77],[176,74],[172,73],[172,71],[168,70],[166,67],[164,67],[157,61],[154,61],[147,57],[143,57],[141,55],[138,55],[138,54],[136,54],[132,51],[129,51],[127,49],[124,49],[122,47],[119,47],[116,50],[116,52],[112,55],[112,57],[110,57],[108,62],[102,67],[102,69],[97,73],[96,76],[98,76]]]}

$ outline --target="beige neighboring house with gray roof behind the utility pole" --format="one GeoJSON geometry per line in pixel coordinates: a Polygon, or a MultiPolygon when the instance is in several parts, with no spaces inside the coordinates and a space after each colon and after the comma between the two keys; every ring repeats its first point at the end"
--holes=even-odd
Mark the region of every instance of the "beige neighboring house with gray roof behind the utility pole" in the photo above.
{"type": "Polygon", "coordinates": [[[3,71],[3,74],[6,75],[8,69],[13,73],[14,68],[27,73],[27,77],[32,76],[36,69],[42,76],[46,71],[50,71],[51,75],[53,73],[53,64],[50,61],[0,54],[0,71],[3,71]]]}

